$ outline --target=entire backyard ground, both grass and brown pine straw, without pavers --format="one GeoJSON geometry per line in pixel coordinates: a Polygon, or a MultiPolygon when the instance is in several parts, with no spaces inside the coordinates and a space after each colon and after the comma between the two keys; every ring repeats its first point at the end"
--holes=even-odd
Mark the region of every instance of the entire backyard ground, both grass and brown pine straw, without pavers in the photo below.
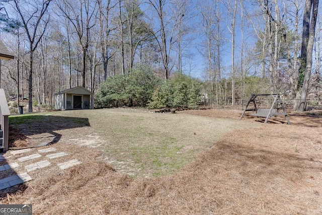
{"type": "MultiPolygon", "coordinates": [[[[68,156],[2,190],[0,203],[31,203],[35,214],[322,213],[320,113],[291,113],[292,125],[238,120],[240,114],[100,109],[11,116],[19,137],[13,149],[55,148],[68,156]],[[55,166],[67,157],[82,164],[55,166]]],[[[4,157],[12,163],[21,155],[4,157]]]]}

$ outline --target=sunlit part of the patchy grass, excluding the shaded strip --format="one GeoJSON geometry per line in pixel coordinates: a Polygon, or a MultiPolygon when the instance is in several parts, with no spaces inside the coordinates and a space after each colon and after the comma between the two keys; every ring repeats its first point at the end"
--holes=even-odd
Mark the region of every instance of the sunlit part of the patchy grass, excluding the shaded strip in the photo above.
{"type": "Polygon", "coordinates": [[[86,111],[83,116],[89,118],[93,131],[105,140],[99,148],[109,164],[135,177],[176,172],[226,132],[255,126],[229,119],[126,109],[86,111]]]}

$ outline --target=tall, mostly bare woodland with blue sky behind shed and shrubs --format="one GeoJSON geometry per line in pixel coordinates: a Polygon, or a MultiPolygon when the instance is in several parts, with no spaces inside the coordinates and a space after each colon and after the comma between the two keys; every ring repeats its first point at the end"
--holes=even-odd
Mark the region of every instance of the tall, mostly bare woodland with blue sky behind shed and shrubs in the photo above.
{"type": "MultiPolygon", "coordinates": [[[[260,93],[280,93],[301,111],[308,97],[321,103],[318,0],[0,2],[1,38],[15,55],[2,61],[1,87],[28,97],[29,112],[53,108],[61,90],[97,93],[142,67],[166,81],[197,77],[212,107],[260,93]]],[[[166,92],[165,81],[153,83],[149,95],[166,92]]]]}

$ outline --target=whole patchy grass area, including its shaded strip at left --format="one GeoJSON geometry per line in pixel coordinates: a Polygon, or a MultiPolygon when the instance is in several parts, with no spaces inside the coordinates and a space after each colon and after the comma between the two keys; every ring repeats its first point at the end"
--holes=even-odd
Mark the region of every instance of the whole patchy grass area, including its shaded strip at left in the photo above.
{"type": "Polygon", "coordinates": [[[57,132],[66,142],[88,145],[103,153],[113,168],[134,177],[172,174],[226,132],[256,125],[231,119],[185,114],[156,114],[127,109],[60,111],[16,115],[10,123],[27,129],[57,132]]]}

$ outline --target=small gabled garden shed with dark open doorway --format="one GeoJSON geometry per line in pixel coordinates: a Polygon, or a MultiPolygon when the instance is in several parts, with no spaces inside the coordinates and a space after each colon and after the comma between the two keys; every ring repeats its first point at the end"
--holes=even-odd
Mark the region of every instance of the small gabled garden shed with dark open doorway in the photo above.
{"type": "Polygon", "coordinates": [[[93,93],[78,86],[55,93],[55,109],[93,109],[93,93]]]}

